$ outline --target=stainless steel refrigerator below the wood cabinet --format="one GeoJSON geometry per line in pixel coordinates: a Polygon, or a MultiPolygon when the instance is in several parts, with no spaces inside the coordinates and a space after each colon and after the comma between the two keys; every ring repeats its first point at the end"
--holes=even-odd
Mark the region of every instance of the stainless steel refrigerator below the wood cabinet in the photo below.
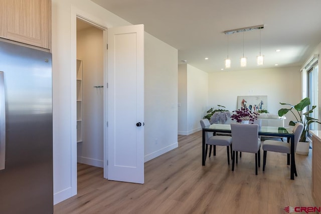
{"type": "Polygon", "coordinates": [[[0,40],[0,213],[53,213],[52,57],[0,40]]]}

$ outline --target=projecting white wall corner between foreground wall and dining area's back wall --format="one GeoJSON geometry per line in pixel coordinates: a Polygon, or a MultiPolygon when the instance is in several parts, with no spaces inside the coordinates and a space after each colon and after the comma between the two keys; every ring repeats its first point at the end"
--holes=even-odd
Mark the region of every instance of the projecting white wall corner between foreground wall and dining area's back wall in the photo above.
{"type": "Polygon", "coordinates": [[[179,134],[201,130],[200,120],[208,107],[208,73],[189,64],[180,65],[179,134]]]}

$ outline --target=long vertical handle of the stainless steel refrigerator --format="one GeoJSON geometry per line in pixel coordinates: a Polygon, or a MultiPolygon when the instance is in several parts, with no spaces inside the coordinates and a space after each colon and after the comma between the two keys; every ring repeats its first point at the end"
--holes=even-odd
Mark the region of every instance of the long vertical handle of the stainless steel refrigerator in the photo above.
{"type": "Polygon", "coordinates": [[[6,160],[6,98],[5,77],[0,71],[0,170],[5,169],[6,160]]]}

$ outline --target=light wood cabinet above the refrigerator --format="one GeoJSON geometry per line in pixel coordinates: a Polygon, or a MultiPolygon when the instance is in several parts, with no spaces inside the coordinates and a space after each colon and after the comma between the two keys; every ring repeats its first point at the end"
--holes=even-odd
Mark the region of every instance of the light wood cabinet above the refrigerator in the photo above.
{"type": "Polygon", "coordinates": [[[50,49],[50,0],[0,0],[1,36],[50,49]]]}

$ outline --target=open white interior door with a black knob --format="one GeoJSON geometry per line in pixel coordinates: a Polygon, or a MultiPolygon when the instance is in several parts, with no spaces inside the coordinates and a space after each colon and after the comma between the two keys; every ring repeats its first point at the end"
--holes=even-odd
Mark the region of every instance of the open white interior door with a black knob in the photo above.
{"type": "Polygon", "coordinates": [[[143,25],[108,29],[107,73],[108,179],[144,183],[143,25]]]}

